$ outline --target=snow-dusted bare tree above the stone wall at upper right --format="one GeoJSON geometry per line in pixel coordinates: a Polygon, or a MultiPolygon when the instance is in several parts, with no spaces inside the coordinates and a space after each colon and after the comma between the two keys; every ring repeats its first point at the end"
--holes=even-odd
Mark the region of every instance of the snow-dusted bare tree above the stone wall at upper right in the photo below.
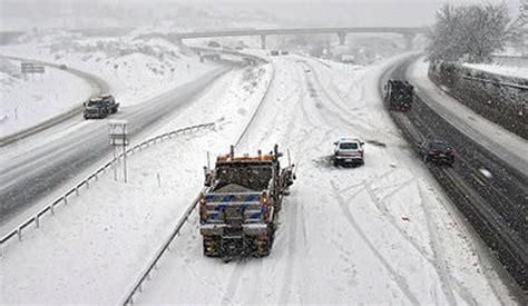
{"type": "Polygon", "coordinates": [[[488,61],[508,40],[520,37],[518,29],[516,22],[510,22],[505,4],[446,4],[437,12],[429,33],[429,59],[488,61]]]}

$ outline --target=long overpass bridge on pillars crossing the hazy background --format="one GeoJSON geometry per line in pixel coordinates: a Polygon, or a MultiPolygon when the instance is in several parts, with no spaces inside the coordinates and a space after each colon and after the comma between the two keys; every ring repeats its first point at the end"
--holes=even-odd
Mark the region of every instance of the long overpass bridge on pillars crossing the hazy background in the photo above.
{"type": "Polygon", "coordinates": [[[427,32],[427,28],[390,28],[390,27],[346,27],[346,28],[291,28],[291,29],[235,29],[203,32],[169,33],[173,41],[182,42],[184,39],[216,38],[216,37],[261,37],[262,49],[266,48],[266,37],[280,34],[338,34],[340,45],[344,45],[348,33],[398,33],[402,34],[408,48],[412,47],[412,40],[417,34],[427,32]]]}

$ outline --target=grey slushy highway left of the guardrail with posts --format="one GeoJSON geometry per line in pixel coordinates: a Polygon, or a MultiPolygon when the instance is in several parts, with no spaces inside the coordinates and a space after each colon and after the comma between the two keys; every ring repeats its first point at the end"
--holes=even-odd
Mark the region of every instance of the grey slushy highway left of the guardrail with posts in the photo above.
{"type": "MultiPolygon", "coordinates": [[[[141,105],[126,108],[109,119],[126,119],[129,135],[138,135],[154,127],[193,101],[211,82],[231,70],[221,67],[213,72],[141,105]]],[[[80,115],[79,115],[80,116],[80,115]]],[[[88,166],[111,152],[107,136],[108,119],[82,121],[63,135],[25,154],[0,157],[0,225],[88,166]]]]}

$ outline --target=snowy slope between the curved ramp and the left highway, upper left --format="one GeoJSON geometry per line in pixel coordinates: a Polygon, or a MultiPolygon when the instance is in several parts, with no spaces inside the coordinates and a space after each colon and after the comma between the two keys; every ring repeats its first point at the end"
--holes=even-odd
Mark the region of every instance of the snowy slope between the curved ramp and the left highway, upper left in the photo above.
{"type": "Polygon", "coordinates": [[[67,65],[108,82],[121,106],[130,106],[203,76],[216,66],[199,62],[185,46],[162,38],[63,37],[53,43],[0,47],[0,55],[67,65]]]}

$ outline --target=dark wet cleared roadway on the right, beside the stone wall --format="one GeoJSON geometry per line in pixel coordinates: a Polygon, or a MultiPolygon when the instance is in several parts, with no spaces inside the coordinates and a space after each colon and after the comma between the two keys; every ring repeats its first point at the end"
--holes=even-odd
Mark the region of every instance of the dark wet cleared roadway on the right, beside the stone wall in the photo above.
{"type": "MultiPolygon", "coordinates": [[[[397,66],[385,75],[384,80],[405,80],[412,60],[397,66]]],[[[526,289],[527,174],[517,167],[517,161],[510,165],[487,146],[477,142],[473,138],[480,135],[461,131],[446,120],[449,112],[439,115],[429,106],[431,97],[427,97],[428,102],[424,102],[422,93],[420,91],[414,98],[411,111],[391,112],[392,118],[404,130],[411,145],[429,137],[447,140],[456,148],[458,160],[452,168],[429,165],[429,169],[482,239],[497,251],[506,269],[526,289]],[[491,176],[483,175],[481,169],[488,170],[491,176]]]]}

